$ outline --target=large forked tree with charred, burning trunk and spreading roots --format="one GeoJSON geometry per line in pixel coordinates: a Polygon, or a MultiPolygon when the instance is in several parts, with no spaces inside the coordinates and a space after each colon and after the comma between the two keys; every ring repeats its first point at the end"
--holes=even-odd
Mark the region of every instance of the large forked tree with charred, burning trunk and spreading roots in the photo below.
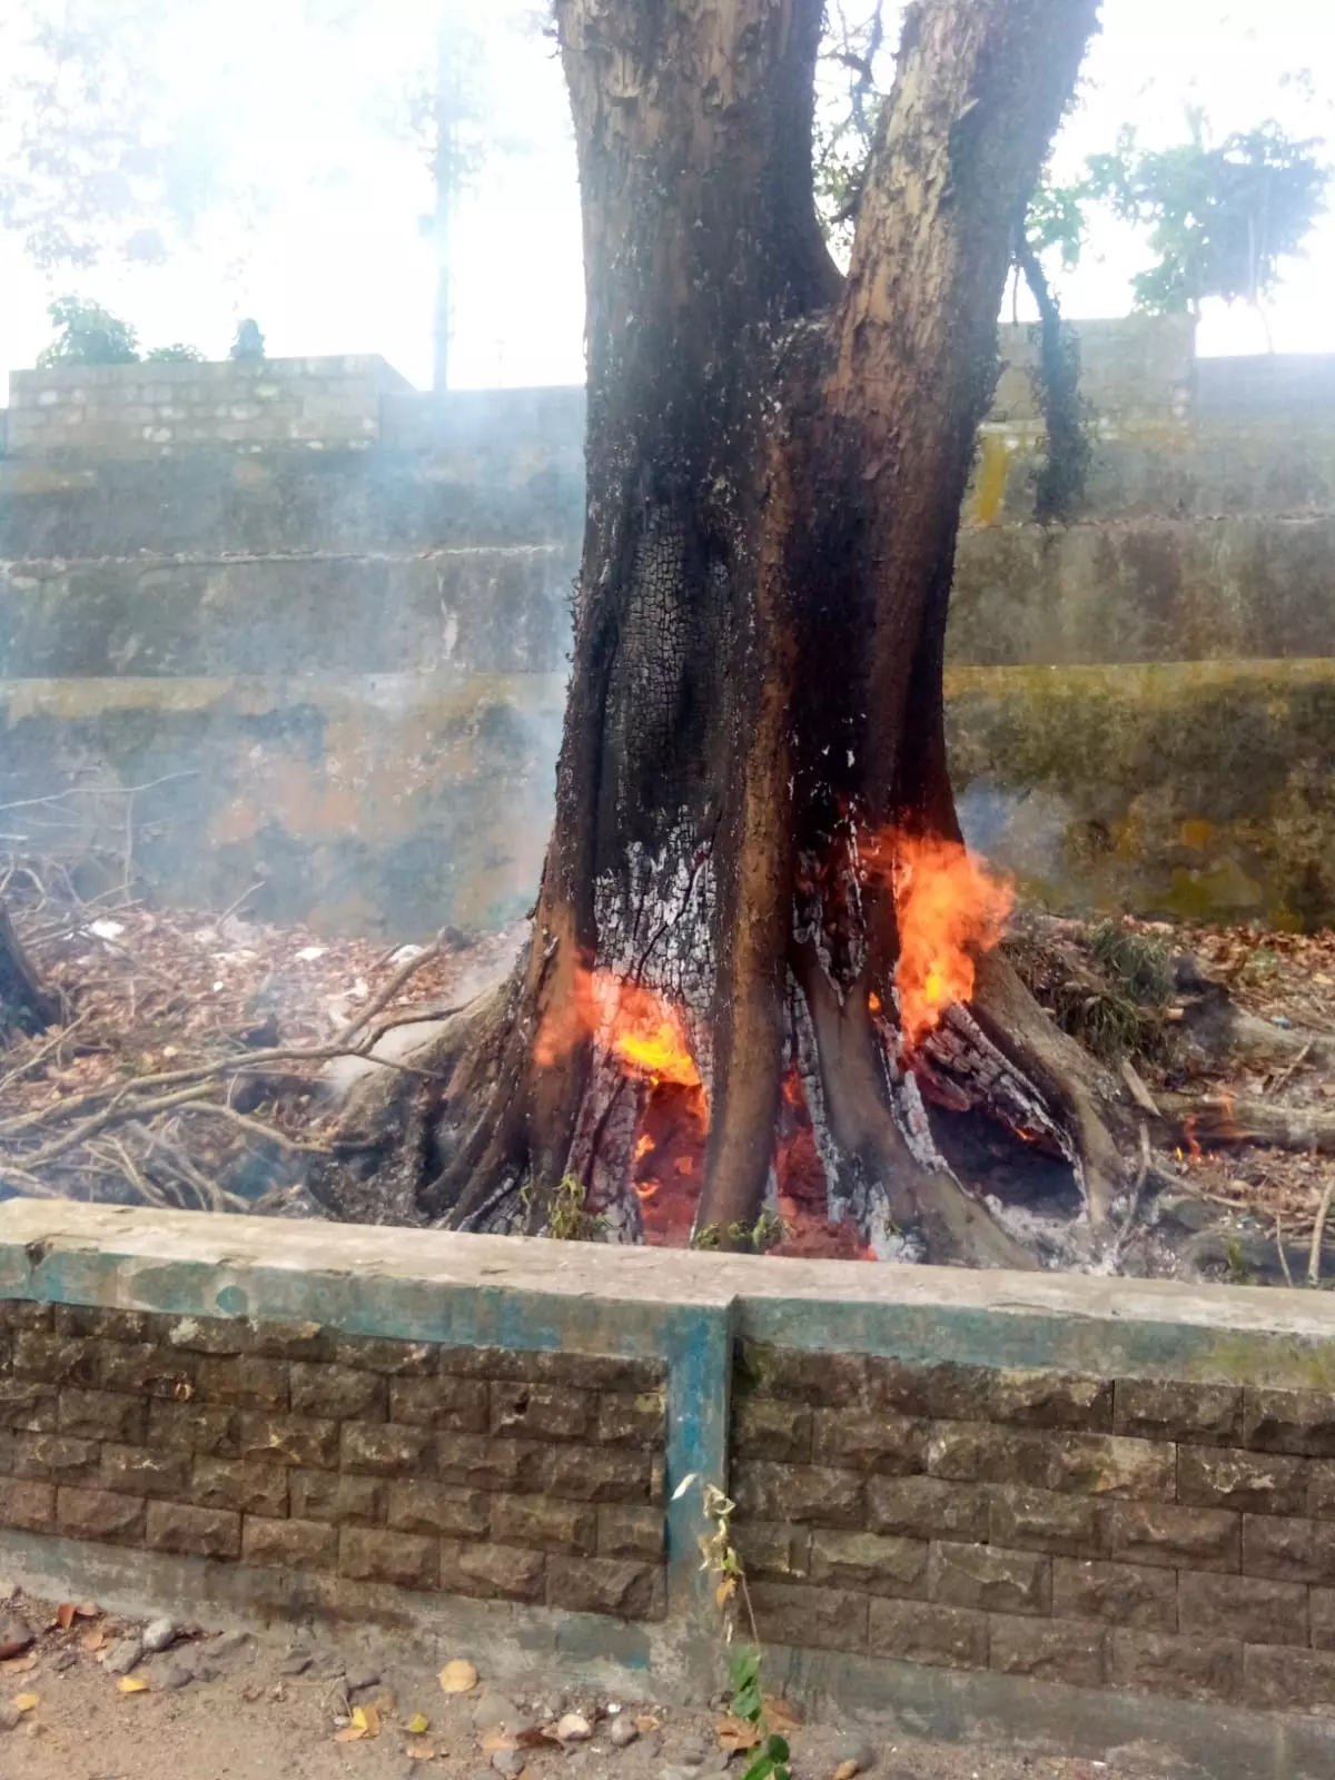
{"type": "Polygon", "coordinates": [[[799,1100],[835,1216],[1025,1264],[924,1095],[1059,1146],[1095,1223],[1125,1130],[990,949],[1004,897],[961,846],[942,668],[1009,253],[1096,0],[908,11],[847,278],[812,198],[821,0],[555,20],[589,338],[555,829],[527,954],[450,1022],[438,1086],[351,1109],[379,1143],[363,1189],[541,1228],[573,1175],[634,1237],[668,1105],[700,1143],[696,1239],[726,1244],[799,1100]]]}

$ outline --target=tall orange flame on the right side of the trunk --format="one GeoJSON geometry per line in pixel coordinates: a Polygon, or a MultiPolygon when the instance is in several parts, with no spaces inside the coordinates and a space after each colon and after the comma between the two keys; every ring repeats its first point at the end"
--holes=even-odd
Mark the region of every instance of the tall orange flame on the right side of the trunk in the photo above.
{"type": "MultiPolygon", "coordinates": [[[[872,862],[879,853],[870,849],[872,862]]],[[[954,840],[895,831],[885,853],[899,922],[899,1029],[911,1050],[974,993],[975,959],[1000,942],[1015,892],[954,840]]]]}

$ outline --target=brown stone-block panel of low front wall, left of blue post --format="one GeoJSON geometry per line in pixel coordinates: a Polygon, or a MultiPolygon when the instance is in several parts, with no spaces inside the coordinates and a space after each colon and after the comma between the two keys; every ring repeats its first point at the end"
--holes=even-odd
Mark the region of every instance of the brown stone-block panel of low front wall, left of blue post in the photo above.
{"type": "Polygon", "coordinates": [[[0,1529],[659,1620],[664,1371],[0,1299],[0,1529]]]}

